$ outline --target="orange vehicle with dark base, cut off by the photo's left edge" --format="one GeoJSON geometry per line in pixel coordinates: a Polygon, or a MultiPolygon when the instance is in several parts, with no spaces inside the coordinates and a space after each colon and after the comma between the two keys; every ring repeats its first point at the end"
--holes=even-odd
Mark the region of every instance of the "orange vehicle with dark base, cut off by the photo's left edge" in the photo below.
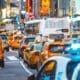
{"type": "Polygon", "coordinates": [[[0,37],[0,67],[4,68],[4,48],[2,45],[1,37],[0,37]]]}

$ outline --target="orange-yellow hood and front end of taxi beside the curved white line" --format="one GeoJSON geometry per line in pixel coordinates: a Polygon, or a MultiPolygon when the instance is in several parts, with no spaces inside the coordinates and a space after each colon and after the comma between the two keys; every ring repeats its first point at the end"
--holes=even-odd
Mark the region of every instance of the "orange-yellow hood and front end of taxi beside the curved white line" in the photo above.
{"type": "Polygon", "coordinates": [[[23,53],[25,54],[24,60],[27,62],[28,66],[33,69],[37,69],[37,64],[39,62],[39,53],[36,51],[30,51],[28,48],[23,53]]]}

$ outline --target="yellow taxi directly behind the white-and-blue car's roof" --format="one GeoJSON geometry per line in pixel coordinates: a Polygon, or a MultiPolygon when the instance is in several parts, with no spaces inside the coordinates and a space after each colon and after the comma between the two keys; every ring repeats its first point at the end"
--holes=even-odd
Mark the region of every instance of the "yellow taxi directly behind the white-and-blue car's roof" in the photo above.
{"type": "Polygon", "coordinates": [[[44,63],[46,59],[52,56],[63,55],[63,50],[65,48],[66,42],[64,41],[54,41],[48,42],[44,45],[44,49],[40,54],[40,62],[44,63]]]}

